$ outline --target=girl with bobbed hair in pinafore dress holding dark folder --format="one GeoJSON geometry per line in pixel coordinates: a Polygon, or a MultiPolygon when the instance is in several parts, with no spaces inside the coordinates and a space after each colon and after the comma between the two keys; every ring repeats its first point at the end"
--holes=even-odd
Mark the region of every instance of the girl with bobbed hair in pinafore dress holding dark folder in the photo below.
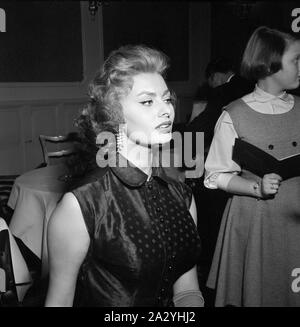
{"type": "Polygon", "coordinates": [[[259,27],[241,72],[255,90],[225,108],[205,163],[205,186],[232,194],[207,286],[216,306],[300,306],[300,98],[285,91],[299,86],[300,40],[259,27]],[[294,162],[279,174],[270,155],[294,162]]]}

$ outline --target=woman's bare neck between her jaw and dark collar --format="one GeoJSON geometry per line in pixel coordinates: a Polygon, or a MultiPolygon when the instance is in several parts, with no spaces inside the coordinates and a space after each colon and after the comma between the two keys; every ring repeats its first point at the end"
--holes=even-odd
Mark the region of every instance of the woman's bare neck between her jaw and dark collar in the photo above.
{"type": "Polygon", "coordinates": [[[136,144],[125,137],[123,147],[119,152],[145,174],[149,177],[151,176],[153,160],[156,153],[155,148],[136,144]]]}

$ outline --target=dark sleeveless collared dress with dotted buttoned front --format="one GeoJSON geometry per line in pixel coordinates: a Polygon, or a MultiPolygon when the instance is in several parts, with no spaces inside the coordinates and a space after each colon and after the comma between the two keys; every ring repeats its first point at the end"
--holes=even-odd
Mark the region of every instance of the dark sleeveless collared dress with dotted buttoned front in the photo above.
{"type": "Polygon", "coordinates": [[[91,239],[75,306],[172,306],[172,286],[198,260],[190,188],[161,167],[98,168],[73,189],[91,239]]]}

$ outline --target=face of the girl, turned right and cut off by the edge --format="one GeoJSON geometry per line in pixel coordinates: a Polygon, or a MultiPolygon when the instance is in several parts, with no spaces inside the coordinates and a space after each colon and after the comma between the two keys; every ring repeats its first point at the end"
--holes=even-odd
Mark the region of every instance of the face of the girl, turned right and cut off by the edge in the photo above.
{"type": "Polygon", "coordinates": [[[282,56],[282,69],[272,75],[282,90],[295,89],[300,79],[300,41],[293,42],[282,56]]]}

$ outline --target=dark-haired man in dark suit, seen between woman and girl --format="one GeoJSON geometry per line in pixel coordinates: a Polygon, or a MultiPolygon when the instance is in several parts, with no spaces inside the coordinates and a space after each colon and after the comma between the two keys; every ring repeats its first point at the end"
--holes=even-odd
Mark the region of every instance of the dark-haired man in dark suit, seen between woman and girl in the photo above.
{"type": "MultiPolygon", "coordinates": [[[[254,89],[254,83],[235,73],[233,65],[224,58],[214,60],[206,68],[206,80],[210,87],[205,110],[185,126],[187,132],[204,132],[204,156],[209,150],[214,127],[222,108],[254,89]]],[[[197,101],[197,99],[195,99],[197,101]]],[[[195,142],[192,142],[195,145],[195,142]]],[[[196,149],[193,149],[195,153],[196,149]]],[[[196,181],[193,193],[198,212],[198,229],[202,240],[202,255],[199,262],[199,280],[208,306],[212,305],[214,294],[205,287],[218,236],[222,214],[229,195],[222,190],[209,190],[203,185],[203,176],[196,181]],[[209,304],[209,302],[211,302],[209,304]]]]}

